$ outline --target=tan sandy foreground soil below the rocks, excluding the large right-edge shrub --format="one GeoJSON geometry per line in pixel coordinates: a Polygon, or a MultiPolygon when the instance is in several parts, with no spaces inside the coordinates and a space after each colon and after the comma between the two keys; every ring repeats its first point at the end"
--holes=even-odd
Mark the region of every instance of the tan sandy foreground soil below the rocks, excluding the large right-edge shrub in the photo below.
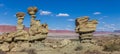
{"type": "MultiPolygon", "coordinates": [[[[11,52],[2,54],[120,54],[120,51],[104,51],[103,45],[116,36],[94,37],[92,43],[80,43],[79,39],[46,39],[34,43],[22,42],[11,52]],[[100,42],[101,41],[101,42],[100,42]]],[[[118,38],[119,39],[119,38],[118,38]]]]}

